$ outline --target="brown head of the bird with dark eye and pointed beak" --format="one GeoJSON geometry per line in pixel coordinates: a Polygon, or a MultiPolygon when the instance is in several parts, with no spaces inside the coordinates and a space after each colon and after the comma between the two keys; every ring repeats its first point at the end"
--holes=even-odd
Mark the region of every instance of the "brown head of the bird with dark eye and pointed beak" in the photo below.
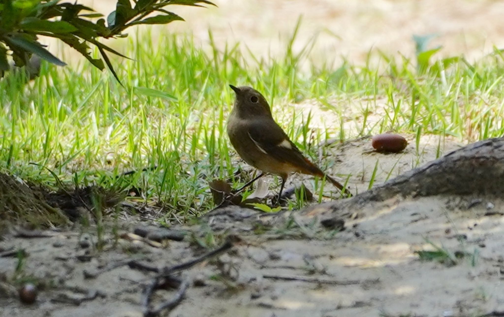
{"type": "Polygon", "coordinates": [[[267,115],[271,117],[271,109],[264,96],[252,87],[235,87],[229,85],[236,94],[234,107],[241,117],[267,115]]]}

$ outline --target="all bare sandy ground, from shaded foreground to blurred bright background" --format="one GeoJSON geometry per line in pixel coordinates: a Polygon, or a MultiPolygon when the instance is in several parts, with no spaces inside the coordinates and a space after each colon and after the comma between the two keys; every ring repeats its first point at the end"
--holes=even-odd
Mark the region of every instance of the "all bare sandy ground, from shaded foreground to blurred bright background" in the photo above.
{"type": "MultiPolygon", "coordinates": [[[[492,44],[504,44],[504,33],[496,27],[504,4],[497,1],[316,0],[310,2],[309,10],[306,2],[297,0],[216,3],[219,8],[177,9],[187,22],[173,23],[159,31],[191,31],[205,44],[210,26],[221,47],[226,41],[239,40],[255,53],[268,56],[280,51],[279,35],[285,38],[290,34],[303,14],[296,48],[319,33],[313,58],[346,56],[356,63],[365,59],[371,47],[411,56],[412,34],[438,33],[433,45],[445,46],[440,55],[465,54],[470,59],[489,52],[492,44]]],[[[100,11],[110,10],[107,2],[94,4],[100,11]]],[[[301,111],[313,109],[295,106],[301,111]]],[[[313,122],[317,126],[317,117],[313,122]]],[[[322,121],[319,124],[324,125],[322,121]]],[[[352,131],[352,124],[344,129],[352,131]]],[[[362,192],[376,161],[376,183],[380,183],[435,159],[440,154],[438,145],[442,153],[460,147],[450,139],[424,136],[417,153],[413,137],[408,141],[403,153],[389,155],[372,152],[369,139],[327,146],[335,162],[330,172],[340,177],[351,174],[352,191],[362,192]]],[[[303,180],[309,186],[308,179],[293,177],[291,181],[303,180]]],[[[217,260],[183,271],[182,277],[205,286],[192,282],[181,304],[169,315],[469,317],[492,311],[504,315],[503,210],[504,202],[485,197],[393,200],[355,210],[344,219],[346,230],[334,236],[325,229],[311,228],[310,218],[297,213],[293,228],[278,227],[267,233],[254,231],[247,221],[223,224],[220,231],[237,231],[243,242],[217,260]],[[452,266],[422,262],[414,252],[432,249],[427,241],[442,246],[452,256],[459,251],[466,257],[452,266]],[[305,281],[268,276],[302,277],[305,281]]],[[[212,236],[222,233],[216,228],[219,220],[203,222],[189,229],[208,237],[211,231],[205,224],[210,223],[212,236]]],[[[139,223],[138,216],[123,213],[119,231],[130,232],[139,223]]],[[[142,291],[152,274],[121,267],[96,279],[85,279],[83,271],[133,258],[161,267],[190,260],[202,252],[191,238],[159,247],[124,240],[115,248],[107,245],[101,252],[92,246],[82,247],[79,241],[83,236],[96,241],[95,233],[94,227],[77,227],[51,237],[8,236],[0,241],[0,252],[25,249],[28,257],[23,274],[49,284],[33,305],[21,304],[16,289],[7,283],[18,260],[0,257],[0,316],[139,316],[142,291]],[[80,305],[54,302],[60,293],[84,296],[76,287],[99,290],[104,296],[80,305]]],[[[160,291],[155,301],[173,294],[173,290],[160,291]]]]}

